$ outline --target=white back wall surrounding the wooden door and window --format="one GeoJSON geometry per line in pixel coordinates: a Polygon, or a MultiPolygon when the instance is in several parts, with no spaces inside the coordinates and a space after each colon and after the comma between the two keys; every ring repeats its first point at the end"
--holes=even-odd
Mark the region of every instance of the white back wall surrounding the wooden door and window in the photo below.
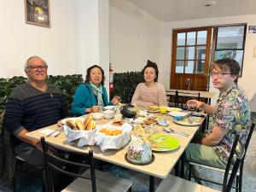
{"type": "MultiPolygon", "coordinates": [[[[177,28],[189,28],[196,26],[213,26],[213,25],[225,25],[225,24],[235,24],[235,23],[247,23],[247,26],[256,25],[256,15],[238,15],[229,17],[219,17],[212,19],[202,19],[202,20],[183,20],[178,22],[165,22],[163,24],[163,31],[161,34],[161,49],[160,49],[160,63],[163,64],[162,67],[167,68],[166,78],[170,79],[171,74],[171,53],[172,53],[172,30],[177,28]]],[[[253,47],[256,45],[256,34],[247,33],[246,47],[243,62],[242,77],[239,79],[239,85],[247,93],[249,99],[253,97],[256,90],[255,81],[255,63],[256,58],[253,58],[253,47]]],[[[170,82],[166,81],[165,87],[169,87],[170,82]]],[[[212,88],[210,84],[210,90],[218,90],[212,88]]],[[[218,94],[216,94],[218,96],[218,94]]],[[[216,102],[213,100],[213,103],[216,102]]]]}

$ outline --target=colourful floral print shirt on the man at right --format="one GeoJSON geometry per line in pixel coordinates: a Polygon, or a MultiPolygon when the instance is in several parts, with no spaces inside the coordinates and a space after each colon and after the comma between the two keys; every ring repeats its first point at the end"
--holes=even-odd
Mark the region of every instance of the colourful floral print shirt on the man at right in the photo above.
{"type": "Polygon", "coordinates": [[[250,108],[244,91],[237,84],[227,91],[221,91],[213,113],[212,127],[228,129],[228,132],[222,141],[213,147],[216,154],[224,160],[228,160],[235,137],[234,133],[241,134],[241,143],[244,144],[249,125],[250,108]]]}

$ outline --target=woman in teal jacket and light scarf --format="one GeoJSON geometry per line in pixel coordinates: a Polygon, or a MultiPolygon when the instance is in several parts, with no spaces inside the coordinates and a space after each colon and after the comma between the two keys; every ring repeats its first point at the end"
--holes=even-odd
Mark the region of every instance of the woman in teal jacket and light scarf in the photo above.
{"type": "Polygon", "coordinates": [[[115,105],[119,102],[119,96],[114,96],[112,102],[108,102],[108,95],[104,87],[104,71],[97,65],[87,69],[84,84],[80,84],[71,105],[73,115],[97,112],[104,106],[115,105]]]}

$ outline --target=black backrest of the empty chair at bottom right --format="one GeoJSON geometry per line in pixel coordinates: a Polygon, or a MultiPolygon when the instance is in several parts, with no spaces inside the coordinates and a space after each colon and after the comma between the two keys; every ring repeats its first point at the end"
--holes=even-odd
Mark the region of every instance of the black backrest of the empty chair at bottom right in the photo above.
{"type": "Polygon", "coordinates": [[[239,138],[240,138],[240,135],[236,135],[230,151],[230,157],[224,172],[224,182],[223,182],[223,188],[222,188],[223,192],[230,192],[236,178],[236,173],[241,165],[241,160],[244,158],[244,155],[245,155],[244,145],[241,145],[241,148],[239,148],[239,152],[237,151],[236,146],[239,143],[239,138]],[[231,173],[230,173],[230,169],[232,169],[231,173]]]}

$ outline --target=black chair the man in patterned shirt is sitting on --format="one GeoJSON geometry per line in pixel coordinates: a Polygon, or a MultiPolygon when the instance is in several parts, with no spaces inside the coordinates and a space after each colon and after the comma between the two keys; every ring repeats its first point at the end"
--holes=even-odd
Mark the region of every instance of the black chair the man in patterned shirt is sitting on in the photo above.
{"type": "MultiPolygon", "coordinates": [[[[239,191],[241,192],[241,187],[242,187],[242,172],[243,172],[243,165],[244,165],[244,161],[245,161],[245,157],[246,157],[246,153],[247,153],[247,148],[248,148],[248,145],[250,143],[250,140],[251,140],[251,137],[253,135],[253,130],[254,130],[254,126],[255,126],[255,123],[252,121],[251,123],[251,126],[250,126],[250,130],[248,132],[248,135],[247,135],[247,140],[246,140],[246,143],[244,145],[244,155],[241,157],[241,165],[238,167],[239,168],[239,171],[236,172],[236,186],[234,186],[233,188],[236,189],[236,192],[239,191]]],[[[233,149],[233,148],[232,148],[233,149]]],[[[232,152],[232,150],[231,150],[232,152]]],[[[231,154],[230,154],[230,159],[231,159],[231,154]]],[[[201,166],[201,167],[204,167],[204,168],[207,168],[207,169],[210,169],[212,171],[217,171],[217,172],[224,172],[224,183],[218,183],[218,182],[215,182],[215,181],[212,181],[212,180],[208,180],[208,179],[205,179],[205,178],[202,178],[202,177],[195,177],[196,179],[199,179],[201,181],[206,181],[206,182],[210,182],[210,183],[215,183],[215,184],[219,184],[219,185],[225,185],[225,181],[227,180],[227,177],[229,175],[229,172],[226,172],[227,170],[227,167],[230,166],[229,163],[231,162],[231,160],[229,159],[228,161],[228,164],[226,166],[226,169],[221,169],[221,168],[218,168],[218,167],[212,167],[212,166],[206,166],[206,165],[201,165],[201,164],[198,164],[198,163],[195,163],[195,162],[189,162],[189,180],[191,179],[191,172],[192,172],[192,166],[201,166]]],[[[231,173],[232,174],[232,173],[231,173]]]]}

